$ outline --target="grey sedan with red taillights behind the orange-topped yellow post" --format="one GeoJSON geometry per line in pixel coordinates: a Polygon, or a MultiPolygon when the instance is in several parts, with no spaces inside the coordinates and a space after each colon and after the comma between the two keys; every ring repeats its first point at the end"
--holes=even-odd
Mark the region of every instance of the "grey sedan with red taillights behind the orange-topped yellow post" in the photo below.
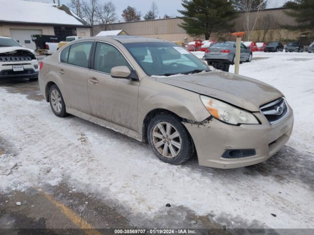
{"type": "MultiPolygon", "coordinates": [[[[252,51],[241,43],[240,62],[251,62],[252,58],[252,51]]],[[[235,64],[235,42],[219,42],[211,45],[205,51],[204,59],[209,65],[216,61],[235,64]]]]}

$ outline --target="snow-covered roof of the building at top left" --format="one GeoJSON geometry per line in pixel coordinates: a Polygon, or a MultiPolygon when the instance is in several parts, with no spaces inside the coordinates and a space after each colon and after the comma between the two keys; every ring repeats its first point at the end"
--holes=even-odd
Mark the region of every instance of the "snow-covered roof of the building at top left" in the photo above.
{"type": "Polygon", "coordinates": [[[0,22],[90,27],[65,5],[25,0],[0,0],[0,22]]]}

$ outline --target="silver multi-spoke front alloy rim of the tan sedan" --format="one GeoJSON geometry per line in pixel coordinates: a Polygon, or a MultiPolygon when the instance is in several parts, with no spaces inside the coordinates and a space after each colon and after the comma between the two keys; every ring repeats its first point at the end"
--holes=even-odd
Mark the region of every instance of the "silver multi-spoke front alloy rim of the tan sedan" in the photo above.
{"type": "Polygon", "coordinates": [[[165,158],[175,158],[182,149],[178,130],[169,122],[158,122],[151,133],[154,147],[165,158]]]}

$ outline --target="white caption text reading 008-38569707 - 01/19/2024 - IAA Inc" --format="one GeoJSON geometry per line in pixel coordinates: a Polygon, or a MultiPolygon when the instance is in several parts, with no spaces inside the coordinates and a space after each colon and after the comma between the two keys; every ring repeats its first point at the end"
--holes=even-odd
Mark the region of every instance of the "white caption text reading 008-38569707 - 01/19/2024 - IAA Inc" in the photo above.
{"type": "Polygon", "coordinates": [[[116,229],[115,234],[196,234],[190,229],[116,229]]]}

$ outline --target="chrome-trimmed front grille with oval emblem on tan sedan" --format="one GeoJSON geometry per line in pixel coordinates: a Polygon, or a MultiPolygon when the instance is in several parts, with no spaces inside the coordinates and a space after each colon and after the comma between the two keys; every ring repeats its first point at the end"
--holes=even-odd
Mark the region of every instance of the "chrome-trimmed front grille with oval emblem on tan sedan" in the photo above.
{"type": "Polygon", "coordinates": [[[261,113],[269,121],[269,123],[275,124],[288,115],[288,106],[286,100],[281,97],[265,104],[261,107],[261,113]]]}

